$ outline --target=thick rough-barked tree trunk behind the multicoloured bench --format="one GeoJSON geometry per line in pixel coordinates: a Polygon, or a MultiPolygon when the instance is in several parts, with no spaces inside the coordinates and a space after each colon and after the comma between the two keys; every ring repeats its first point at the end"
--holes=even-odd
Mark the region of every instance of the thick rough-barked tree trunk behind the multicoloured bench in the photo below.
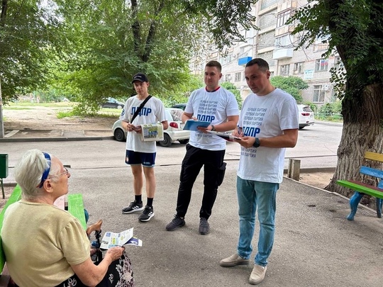
{"type": "MultiPolygon", "coordinates": [[[[375,180],[360,175],[360,166],[382,169],[382,165],[366,163],[364,156],[366,151],[382,153],[383,84],[367,86],[359,99],[343,99],[342,110],[343,133],[338,147],[338,164],[325,189],[350,197],[353,191],[336,181],[353,179],[376,185],[375,180]]],[[[374,198],[365,196],[364,203],[373,201],[374,198]]]]}

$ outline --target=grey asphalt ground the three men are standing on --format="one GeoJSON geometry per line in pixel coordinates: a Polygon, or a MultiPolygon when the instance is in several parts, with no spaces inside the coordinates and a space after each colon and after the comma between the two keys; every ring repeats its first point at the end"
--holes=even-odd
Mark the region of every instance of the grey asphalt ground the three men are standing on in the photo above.
{"type": "MultiPolygon", "coordinates": [[[[209,219],[209,235],[198,233],[202,171],[194,184],[186,225],[168,232],[165,225],[175,212],[180,162],[161,164],[165,159],[158,157],[155,217],[148,223],[140,223],[138,214],[121,213],[121,208],[133,199],[133,177],[129,167],[99,164],[99,154],[107,153],[109,138],[110,135],[101,136],[102,144],[99,140],[73,142],[70,149],[62,149],[60,142],[53,141],[0,140],[0,153],[9,154],[9,166],[13,167],[29,148],[48,150],[47,147],[51,147],[57,151],[54,154],[60,153],[65,164],[71,164],[67,159],[77,154],[81,157],[80,145],[93,152],[94,156],[88,157],[87,162],[72,165],[70,192],[83,193],[89,223],[103,219],[103,232],[134,227],[134,234],[143,240],[143,247],[127,246],[126,250],[132,259],[137,286],[250,286],[248,277],[252,264],[232,268],[218,264],[235,252],[238,241],[235,194],[238,162],[228,161],[226,176],[209,219]]],[[[89,138],[77,137],[77,140],[89,138]]],[[[4,181],[14,181],[12,168],[4,181]]],[[[360,208],[355,221],[350,222],[346,220],[349,212],[348,198],[285,178],[277,195],[274,248],[265,281],[259,286],[382,286],[383,219],[377,218],[369,208],[360,208]]],[[[252,244],[253,258],[257,236],[252,244]]]]}

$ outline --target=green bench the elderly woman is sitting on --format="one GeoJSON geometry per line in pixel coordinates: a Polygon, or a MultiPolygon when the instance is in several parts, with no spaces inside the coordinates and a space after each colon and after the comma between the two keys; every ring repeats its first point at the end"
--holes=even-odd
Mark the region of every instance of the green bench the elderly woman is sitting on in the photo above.
{"type": "MultiPolygon", "coordinates": [[[[3,210],[0,213],[0,231],[1,231],[1,227],[3,227],[4,213],[6,211],[6,208],[8,208],[12,203],[19,201],[20,199],[21,199],[21,188],[20,186],[16,185],[16,187],[13,188],[13,192],[11,196],[9,197],[8,201],[6,201],[6,205],[4,206],[3,210]]],[[[87,222],[85,220],[84,202],[82,201],[82,194],[81,193],[68,194],[67,207],[68,207],[68,212],[72,214],[75,218],[77,218],[79,222],[81,223],[82,227],[84,227],[84,230],[86,230],[87,222]]],[[[62,206],[62,208],[64,208],[64,206],[62,206]]],[[[9,282],[11,281],[11,276],[9,276],[9,271],[6,268],[6,257],[4,254],[3,246],[1,244],[1,237],[0,237],[0,274],[1,274],[0,287],[9,286],[9,282]]]]}

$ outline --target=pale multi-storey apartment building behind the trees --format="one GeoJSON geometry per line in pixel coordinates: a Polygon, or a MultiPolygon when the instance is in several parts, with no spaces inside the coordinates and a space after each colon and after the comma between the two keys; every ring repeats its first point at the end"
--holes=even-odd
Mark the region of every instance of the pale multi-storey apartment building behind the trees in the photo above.
{"type": "Polygon", "coordinates": [[[302,91],[304,101],[318,106],[336,101],[330,69],[340,64],[340,57],[322,57],[327,50],[327,44],[322,43],[324,39],[318,39],[307,49],[295,50],[299,35],[292,35],[294,26],[286,25],[294,10],[305,4],[306,0],[257,1],[251,13],[257,17],[256,26],[260,30],[242,30],[245,43],[230,47],[225,55],[219,51],[208,52],[203,59],[194,60],[191,69],[200,74],[206,62],[218,60],[223,67],[221,81],[230,81],[245,99],[251,93],[245,81],[245,64],[252,58],[261,57],[270,64],[272,76],[301,77],[309,84],[309,89],[302,91]]]}

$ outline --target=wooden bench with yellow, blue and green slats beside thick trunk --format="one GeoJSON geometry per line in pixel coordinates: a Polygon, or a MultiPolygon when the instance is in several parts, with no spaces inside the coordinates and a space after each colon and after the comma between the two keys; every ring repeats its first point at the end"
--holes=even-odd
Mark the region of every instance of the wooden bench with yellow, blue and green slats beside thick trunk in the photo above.
{"type": "MultiPolygon", "coordinates": [[[[365,159],[376,162],[383,162],[383,154],[378,154],[376,152],[366,152],[365,159]]],[[[365,174],[367,176],[372,176],[378,180],[377,186],[372,186],[370,184],[365,184],[361,181],[337,181],[341,186],[345,186],[353,189],[355,193],[350,198],[350,208],[351,213],[348,215],[348,220],[354,220],[355,213],[357,212],[357,205],[365,194],[374,196],[377,198],[377,217],[382,218],[382,203],[383,203],[383,171],[382,169],[374,169],[372,167],[360,167],[360,174],[365,174]]]]}

